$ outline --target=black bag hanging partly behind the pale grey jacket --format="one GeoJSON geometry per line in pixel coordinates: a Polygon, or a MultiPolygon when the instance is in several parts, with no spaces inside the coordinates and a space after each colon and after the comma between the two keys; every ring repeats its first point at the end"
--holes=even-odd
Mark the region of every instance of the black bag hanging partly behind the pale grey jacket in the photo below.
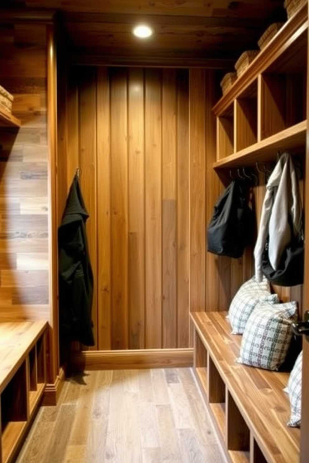
{"type": "Polygon", "coordinates": [[[267,280],[279,286],[295,286],[303,284],[304,246],[303,239],[297,242],[293,240],[289,244],[279,263],[279,268],[274,270],[268,258],[268,239],[263,251],[262,272],[267,280]]]}

